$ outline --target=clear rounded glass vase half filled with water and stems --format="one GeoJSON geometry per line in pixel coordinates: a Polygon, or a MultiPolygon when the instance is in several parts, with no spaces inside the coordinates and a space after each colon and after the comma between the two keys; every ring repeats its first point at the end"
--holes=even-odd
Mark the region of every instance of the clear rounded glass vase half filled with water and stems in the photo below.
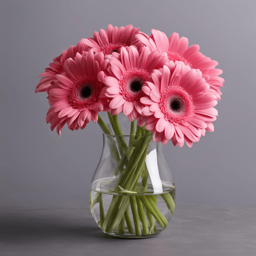
{"type": "Polygon", "coordinates": [[[103,232],[147,238],[162,232],[175,209],[175,184],[161,143],[152,134],[103,134],[90,186],[90,209],[103,232]]]}

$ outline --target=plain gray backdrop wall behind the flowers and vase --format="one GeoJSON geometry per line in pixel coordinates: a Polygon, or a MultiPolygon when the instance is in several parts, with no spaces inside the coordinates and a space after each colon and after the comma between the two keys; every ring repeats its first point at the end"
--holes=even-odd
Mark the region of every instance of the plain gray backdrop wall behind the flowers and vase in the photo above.
{"type": "Polygon", "coordinates": [[[164,154],[177,201],[256,204],[255,42],[253,1],[0,1],[0,205],[88,203],[102,151],[102,133],[90,123],[67,127],[60,138],[45,122],[47,93],[34,93],[52,59],[93,31],[133,24],[189,38],[218,61],[226,80],[216,106],[215,132],[192,148],[164,154]]]}

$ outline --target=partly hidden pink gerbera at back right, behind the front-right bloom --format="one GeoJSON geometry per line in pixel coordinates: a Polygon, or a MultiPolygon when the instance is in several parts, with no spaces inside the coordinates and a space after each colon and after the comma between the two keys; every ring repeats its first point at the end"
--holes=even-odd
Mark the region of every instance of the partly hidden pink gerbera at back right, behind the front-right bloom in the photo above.
{"type": "Polygon", "coordinates": [[[225,80],[219,77],[222,70],[215,68],[218,65],[217,61],[213,61],[199,52],[197,44],[187,48],[188,38],[179,38],[178,33],[172,33],[168,39],[166,34],[159,30],[151,29],[151,32],[152,35],[149,38],[143,34],[135,35],[135,37],[141,45],[147,46],[151,51],[158,49],[161,52],[166,52],[170,61],[183,61],[189,67],[199,69],[202,72],[202,77],[218,96],[218,100],[221,99],[220,87],[223,86],[225,80]]]}

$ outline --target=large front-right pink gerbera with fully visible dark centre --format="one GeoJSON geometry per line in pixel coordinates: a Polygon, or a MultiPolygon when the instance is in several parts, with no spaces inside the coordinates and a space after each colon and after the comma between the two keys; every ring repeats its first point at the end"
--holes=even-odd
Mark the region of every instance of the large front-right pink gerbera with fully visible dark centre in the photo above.
{"type": "Polygon", "coordinates": [[[154,132],[153,139],[180,147],[184,141],[191,147],[199,141],[205,130],[213,131],[212,121],[218,112],[213,108],[216,95],[202,78],[202,72],[191,69],[181,61],[170,61],[161,70],[154,70],[151,81],[142,88],[145,97],[140,99],[145,107],[145,128],[154,132]]]}

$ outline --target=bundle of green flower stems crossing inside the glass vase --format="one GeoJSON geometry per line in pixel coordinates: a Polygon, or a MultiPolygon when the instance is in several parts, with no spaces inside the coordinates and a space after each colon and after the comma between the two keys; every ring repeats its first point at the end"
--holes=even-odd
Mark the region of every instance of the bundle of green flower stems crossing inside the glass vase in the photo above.
{"type": "MultiPolygon", "coordinates": [[[[145,127],[138,125],[135,133],[135,123],[133,121],[131,122],[130,141],[129,145],[127,145],[118,122],[118,116],[111,116],[108,112],[108,118],[113,128],[116,142],[108,126],[99,115],[98,123],[102,131],[110,135],[109,146],[112,157],[116,162],[113,175],[117,176],[119,172],[120,175],[117,178],[114,189],[110,190],[110,193],[112,192],[115,195],[113,195],[106,215],[104,213],[101,193],[97,193],[90,202],[91,209],[93,209],[96,203],[99,203],[100,221],[98,224],[106,233],[111,233],[116,229],[120,234],[125,233],[125,222],[128,232],[131,234],[141,236],[142,231],[143,235],[157,233],[155,221],[157,221],[162,230],[167,227],[168,221],[157,208],[157,195],[148,195],[146,191],[148,186],[148,170],[145,158],[148,152],[148,145],[152,140],[152,133],[146,130],[145,127]],[[142,178],[142,190],[138,192],[137,187],[140,177],[142,178]],[[129,207],[131,207],[134,227],[129,207]]],[[[163,193],[161,197],[172,215],[175,208],[174,199],[169,193],[163,193]]]]}

